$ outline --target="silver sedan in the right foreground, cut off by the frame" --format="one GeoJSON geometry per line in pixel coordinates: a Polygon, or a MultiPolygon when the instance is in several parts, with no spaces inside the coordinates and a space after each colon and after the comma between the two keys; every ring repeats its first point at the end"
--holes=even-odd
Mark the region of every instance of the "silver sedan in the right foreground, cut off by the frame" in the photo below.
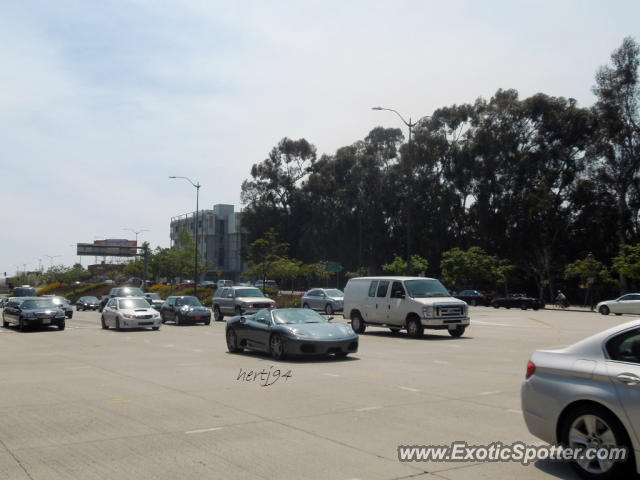
{"type": "Polygon", "coordinates": [[[529,431],[568,447],[627,449],[626,462],[583,458],[586,478],[632,478],[640,466],[640,320],[610,328],[559,350],[538,350],[521,389],[529,431]]]}

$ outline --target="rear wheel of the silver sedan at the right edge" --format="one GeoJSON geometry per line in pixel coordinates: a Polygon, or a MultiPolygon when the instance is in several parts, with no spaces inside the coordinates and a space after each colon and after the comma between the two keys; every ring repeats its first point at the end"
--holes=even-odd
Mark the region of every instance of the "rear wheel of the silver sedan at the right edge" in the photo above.
{"type": "Polygon", "coordinates": [[[596,449],[596,458],[587,457],[571,463],[574,470],[585,478],[618,479],[628,478],[631,463],[628,460],[601,460],[601,450],[626,448],[633,452],[631,442],[620,421],[608,410],[586,405],[576,408],[564,420],[562,442],[569,448],[596,449]]]}

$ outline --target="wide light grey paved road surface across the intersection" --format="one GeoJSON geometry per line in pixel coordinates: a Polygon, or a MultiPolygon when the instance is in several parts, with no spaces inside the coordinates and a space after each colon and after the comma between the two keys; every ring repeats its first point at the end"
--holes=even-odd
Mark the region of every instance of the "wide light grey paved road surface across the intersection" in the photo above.
{"type": "Polygon", "coordinates": [[[531,352],[633,318],[470,310],[460,339],[373,328],[344,360],[229,354],[222,322],[0,328],[0,479],[577,478],[552,461],[398,461],[399,445],[541,443],[520,411],[531,352]],[[242,377],[261,370],[271,385],[242,377]]]}

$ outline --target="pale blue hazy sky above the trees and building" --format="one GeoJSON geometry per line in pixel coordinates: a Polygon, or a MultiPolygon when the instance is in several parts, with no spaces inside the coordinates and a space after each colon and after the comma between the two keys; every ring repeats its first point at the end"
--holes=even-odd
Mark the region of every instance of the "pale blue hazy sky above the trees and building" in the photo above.
{"type": "MultiPolygon", "coordinates": [[[[75,244],[168,247],[172,216],[240,204],[284,137],[318,156],[453,104],[595,98],[640,2],[3,0],[0,275],[75,244]]],[[[53,258],[52,258],[53,257],[53,258]]],[[[82,264],[93,257],[83,257],[82,264]]]]}

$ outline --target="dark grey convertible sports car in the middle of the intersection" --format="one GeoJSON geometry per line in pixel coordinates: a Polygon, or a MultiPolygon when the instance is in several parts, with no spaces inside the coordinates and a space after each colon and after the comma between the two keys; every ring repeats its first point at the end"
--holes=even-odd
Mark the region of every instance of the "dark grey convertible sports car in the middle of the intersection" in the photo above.
{"type": "Polygon", "coordinates": [[[227,348],[270,353],[280,360],[287,355],[327,355],[346,357],[358,351],[358,335],[349,325],[331,323],[306,308],[260,310],[254,315],[227,320],[227,348]]]}

